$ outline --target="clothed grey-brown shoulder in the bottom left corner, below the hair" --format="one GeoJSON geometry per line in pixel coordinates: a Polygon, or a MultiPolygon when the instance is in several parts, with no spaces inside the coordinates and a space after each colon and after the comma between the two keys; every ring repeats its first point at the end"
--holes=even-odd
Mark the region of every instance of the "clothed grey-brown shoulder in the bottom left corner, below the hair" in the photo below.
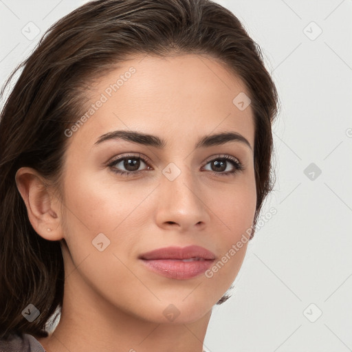
{"type": "Polygon", "coordinates": [[[24,333],[0,340],[0,352],[45,352],[45,349],[34,336],[24,333]]]}

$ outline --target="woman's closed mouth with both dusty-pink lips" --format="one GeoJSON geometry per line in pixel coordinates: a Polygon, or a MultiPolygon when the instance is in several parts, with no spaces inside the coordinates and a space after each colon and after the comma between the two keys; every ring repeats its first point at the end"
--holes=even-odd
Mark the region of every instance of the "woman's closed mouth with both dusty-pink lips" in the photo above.
{"type": "Polygon", "coordinates": [[[159,248],[138,258],[156,274],[186,280],[206,272],[214,262],[215,254],[198,245],[190,245],[185,248],[159,248]]]}

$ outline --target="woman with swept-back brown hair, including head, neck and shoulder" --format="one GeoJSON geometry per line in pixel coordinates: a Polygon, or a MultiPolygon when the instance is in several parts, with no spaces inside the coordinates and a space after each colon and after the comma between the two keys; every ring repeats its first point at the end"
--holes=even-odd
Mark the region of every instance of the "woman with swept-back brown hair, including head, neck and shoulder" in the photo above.
{"type": "Polygon", "coordinates": [[[211,1],[54,24],[1,112],[0,350],[202,351],[272,190],[276,111],[211,1]]]}

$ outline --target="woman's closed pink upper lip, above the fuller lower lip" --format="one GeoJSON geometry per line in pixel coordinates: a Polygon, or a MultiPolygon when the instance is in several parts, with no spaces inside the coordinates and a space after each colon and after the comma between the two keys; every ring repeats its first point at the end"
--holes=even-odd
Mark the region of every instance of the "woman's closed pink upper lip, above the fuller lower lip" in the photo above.
{"type": "Polygon", "coordinates": [[[188,245],[187,247],[165,247],[152,250],[151,252],[143,253],[139,256],[140,259],[190,259],[203,258],[208,260],[215,259],[215,254],[206,250],[199,245],[188,245]]]}

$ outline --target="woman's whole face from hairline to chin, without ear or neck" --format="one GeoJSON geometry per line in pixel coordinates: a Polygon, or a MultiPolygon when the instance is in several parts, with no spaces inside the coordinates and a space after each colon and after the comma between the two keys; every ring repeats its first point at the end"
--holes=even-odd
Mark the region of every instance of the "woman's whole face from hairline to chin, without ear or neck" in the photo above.
{"type": "Polygon", "coordinates": [[[94,85],[65,132],[65,300],[153,322],[192,322],[217,303],[256,207],[246,92],[197,55],[133,58],[94,85]],[[175,250],[194,245],[211,253],[175,250]]]}

